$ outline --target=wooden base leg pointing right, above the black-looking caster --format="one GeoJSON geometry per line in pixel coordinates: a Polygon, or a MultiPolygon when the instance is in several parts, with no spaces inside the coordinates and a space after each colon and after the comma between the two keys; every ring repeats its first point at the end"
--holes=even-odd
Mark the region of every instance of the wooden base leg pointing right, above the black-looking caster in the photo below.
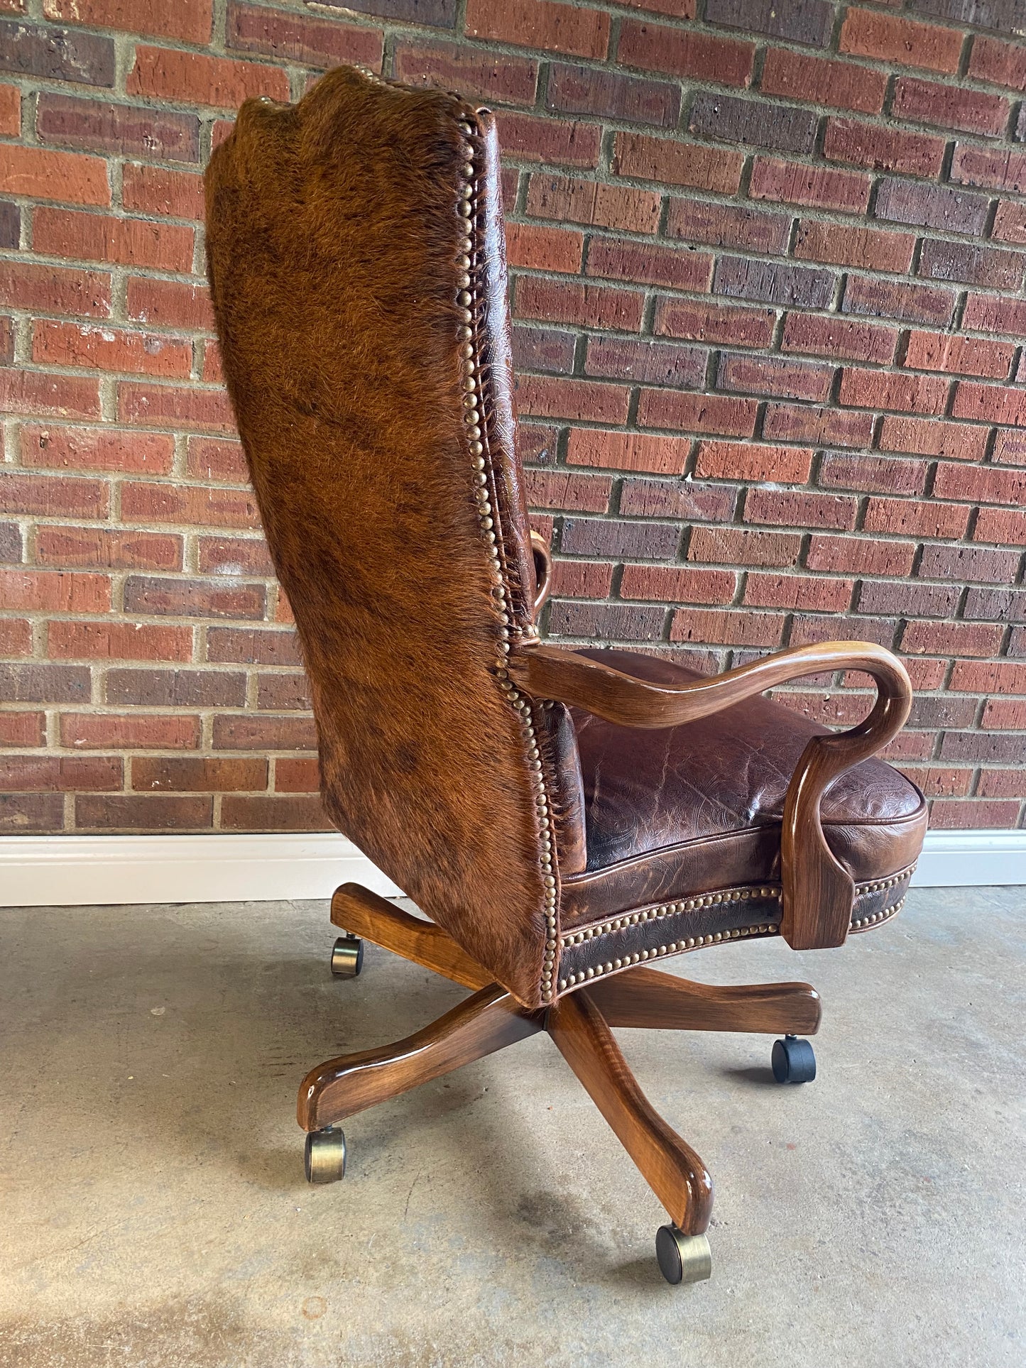
{"type": "Polygon", "coordinates": [[[609,1026],[814,1036],[822,1015],[811,984],[717,988],[640,966],[592,984],[588,993],[609,1026]]]}

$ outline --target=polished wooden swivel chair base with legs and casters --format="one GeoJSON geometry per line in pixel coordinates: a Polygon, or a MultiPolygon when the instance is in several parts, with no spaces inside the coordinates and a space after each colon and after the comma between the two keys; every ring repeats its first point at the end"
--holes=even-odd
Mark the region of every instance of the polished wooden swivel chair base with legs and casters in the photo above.
{"type": "Polygon", "coordinates": [[[699,1156],[653,1111],[637,1086],[611,1026],[662,1030],[781,1031],[773,1071],[781,1082],[815,1077],[811,1045],[796,1040],[819,1027],[819,996],[808,984],[713,988],[637,967],[528,1011],[451,937],[410,917],[358,884],[331,900],[331,921],[346,934],[335,943],[332,971],[360,971],[358,937],[451,978],[473,995],[423,1030],[386,1045],[330,1059],[302,1081],[298,1120],[306,1135],[306,1178],[332,1182],[345,1172],[345,1137],[335,1123],[375,1103],[439,1078],[546,1030],[616,1131],[670,1215],[657,1235],[659,1267],[669,1282],[699,1282],[711,1271],[706,1228],[713,1179],[699,1156]]]}

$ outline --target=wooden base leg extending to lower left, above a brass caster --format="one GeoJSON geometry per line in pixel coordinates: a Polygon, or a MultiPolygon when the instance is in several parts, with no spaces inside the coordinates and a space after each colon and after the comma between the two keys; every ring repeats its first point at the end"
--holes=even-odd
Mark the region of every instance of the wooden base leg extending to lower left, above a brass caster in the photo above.
{"type": "Polygon", "coordinates": [[[300,1126],[323,1130],[543,1027],[543,1012],[529,1012],[505,988],[490,984],[394,1045],[341,1055],[311,1070],[300,1088],[300,1126]]]}

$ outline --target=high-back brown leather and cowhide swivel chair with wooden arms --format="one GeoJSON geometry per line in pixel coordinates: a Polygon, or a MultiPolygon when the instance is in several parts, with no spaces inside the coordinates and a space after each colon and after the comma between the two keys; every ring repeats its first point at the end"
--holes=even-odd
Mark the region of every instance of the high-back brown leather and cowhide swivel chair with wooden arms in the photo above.
{"type": "Polygon", "coordinates": [[[539,640],[549,555],[516,449],[495,120],[354,68],[295,107],[250,100],[207,172],[228,393],[295,614],[324,803],[430,921],[347,884],[360,937],[472,989],[300,1090],[312,1182],[342,1118],[535,1031],[555,1041],[670,1215],[670,1282],[709,1276],[713,1185],[610,1027],[780,1033],[814,1077],[807,984],[711,988],[653,967],[728,941],[843,945],[900,908],[921,793],[869,759],[902,728],[900,662],[865,642],[707,679],[539,640]],[[833,735],[759,695],[860,670],[833,735]]]}

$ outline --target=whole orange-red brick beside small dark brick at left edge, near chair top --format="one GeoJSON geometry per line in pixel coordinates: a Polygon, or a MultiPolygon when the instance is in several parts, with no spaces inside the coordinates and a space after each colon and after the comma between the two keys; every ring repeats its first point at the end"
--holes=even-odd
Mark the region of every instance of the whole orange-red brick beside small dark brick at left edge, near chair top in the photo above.
{"type": "Polygon", "coordinates": [[[41,207],[33,215],[31,242],[36,252],[49,256],[149,265],[160,271],[189,271],[193,263],[192,228],[101,213],[41,207]]]}

